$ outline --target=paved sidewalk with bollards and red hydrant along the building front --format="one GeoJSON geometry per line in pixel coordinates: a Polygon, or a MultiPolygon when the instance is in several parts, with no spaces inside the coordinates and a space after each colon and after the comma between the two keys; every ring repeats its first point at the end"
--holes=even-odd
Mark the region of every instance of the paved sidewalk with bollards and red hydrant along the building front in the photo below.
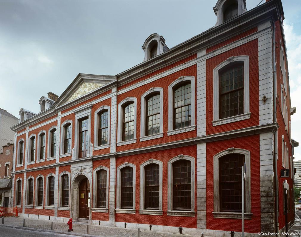
{"type": "MultiPolygon", "coordinates": [[[[7,226],[13,228],[23,229],[23,219],[20,217],[5,217],[4,225],[2,225],[2,218],[0,218],[0,226],[7,226]]],[[[51,220],[37,220],[32,218],[25,218],[26,229],[43,231],[43,232],[55,232],[57,234],[68,234],[68,235],[77,235],[77,236],[107,236],[107,237],[137,237],[138,231],[137,229],[125,229],[118,227],[108,227],[108,226],[97,226],[90,225],[90,235],[87,235],[87,226],[86,225],[76,225],[73,224],[73,232],[67,232],[69,226],[67,225],[67,221],[59,222],[53,221],[54,230],[51,230],[51,220]]],[[[149,230],[140,230],[141,237],[193,237],[192,235],[185,234],[175,234],[175,233],[167,233],[167,232],[155,232],[149,230]]]]}

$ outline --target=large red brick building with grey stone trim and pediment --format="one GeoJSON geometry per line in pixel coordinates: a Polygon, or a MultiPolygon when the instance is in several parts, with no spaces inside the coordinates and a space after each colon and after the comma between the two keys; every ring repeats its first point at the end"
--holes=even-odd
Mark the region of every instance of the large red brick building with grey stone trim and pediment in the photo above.
{"type": "MultiPolygon", "coordinates": [[[[78,74],[15,131],[20,216],[205,236],[294,223],[291,107],[280,0],[246,10],[219,0],[214,27],[169,49],[151,34],[144,62],[114,76],[78,74]],[[275,172],[275,175],[274,175],[275,172]]],[[[237,233],[239,235],[239,233],[237,233]]],[[[252,235],[252,234],[250,234],[252,235]]]]}

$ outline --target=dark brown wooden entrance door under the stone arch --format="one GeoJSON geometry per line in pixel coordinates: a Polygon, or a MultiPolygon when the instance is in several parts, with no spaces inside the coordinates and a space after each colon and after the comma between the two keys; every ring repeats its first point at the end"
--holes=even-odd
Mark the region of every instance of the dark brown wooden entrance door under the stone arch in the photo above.
{"type": "Polygon", "coordinates": [[[79,218],[89,218],[90,215],[90,184],[87,178],[79,184],[79,218]]]}

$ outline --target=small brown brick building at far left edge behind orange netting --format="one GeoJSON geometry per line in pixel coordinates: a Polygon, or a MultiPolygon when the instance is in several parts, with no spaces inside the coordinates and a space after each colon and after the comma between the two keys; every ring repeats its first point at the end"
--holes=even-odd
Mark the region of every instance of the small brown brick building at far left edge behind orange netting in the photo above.
{"type": "Polygon", "coordinates": [[[14,144],[8,143],[6,146],[2,146],[0,152],[0,204],[2,207],[11,207],[13,204],[11,199],[13,159],[14,144]]]}

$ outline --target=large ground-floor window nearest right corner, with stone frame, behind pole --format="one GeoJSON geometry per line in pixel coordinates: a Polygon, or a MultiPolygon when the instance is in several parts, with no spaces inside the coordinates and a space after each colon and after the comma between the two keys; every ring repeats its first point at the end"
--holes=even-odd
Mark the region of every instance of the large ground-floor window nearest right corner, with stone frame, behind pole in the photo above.
{"type": "Polygon", "coordinates": [[[214,217],[241,218],[241,176],[244,163],[246,163],[245,218],[251,219],[250,151],[234,147],[213,156],[214,217]]]}

